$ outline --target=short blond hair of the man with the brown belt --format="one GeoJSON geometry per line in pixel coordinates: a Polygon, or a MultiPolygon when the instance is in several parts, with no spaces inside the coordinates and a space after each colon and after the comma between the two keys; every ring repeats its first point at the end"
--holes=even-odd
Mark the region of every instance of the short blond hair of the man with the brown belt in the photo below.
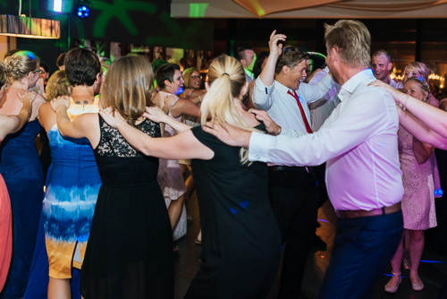
{"type": "Polygon", "coordinates": [[[335,25],[325,24],[327,50],[337,50],[342,64],[359,68],[371,64],[371,35],[360,21],[341,20],[335,25]]]}

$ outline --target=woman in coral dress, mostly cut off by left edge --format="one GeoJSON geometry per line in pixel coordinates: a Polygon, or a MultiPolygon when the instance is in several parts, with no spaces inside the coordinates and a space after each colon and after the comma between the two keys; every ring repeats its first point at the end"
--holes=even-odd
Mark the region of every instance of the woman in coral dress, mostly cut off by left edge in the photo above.
{"type": "MultiPolygon", "coordinates": [[[[0,62],[0,100],[4,97],[4,87],[8,81],[5,65],[0,62]]],[[[26,91],[18,97],[23,105],[17,115],[0,115],[0,141],[4,141],[6,135],[17,132],[28,122],[32,112],[32,103],[36,95],[26,91]]],[[[8,276],[11,257],[13,254],[13,217],[11,213],[11,201],[8,189],[4,184],[4,178],[0,175],[0,293],[8,276]]]]}

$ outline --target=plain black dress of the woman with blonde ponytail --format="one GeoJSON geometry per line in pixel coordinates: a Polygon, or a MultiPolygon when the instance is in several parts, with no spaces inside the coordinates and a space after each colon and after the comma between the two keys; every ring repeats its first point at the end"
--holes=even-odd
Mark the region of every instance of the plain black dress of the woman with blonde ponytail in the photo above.
{"type": "Polygon", "coordinates": [[[241,165],[240,148],[227,146],[202,127],[191,130],[215,156],[192,160],[202,263],[185,298],[265,298],[281,254],[281,233],[268,201],[266,164],[241,165]]]}

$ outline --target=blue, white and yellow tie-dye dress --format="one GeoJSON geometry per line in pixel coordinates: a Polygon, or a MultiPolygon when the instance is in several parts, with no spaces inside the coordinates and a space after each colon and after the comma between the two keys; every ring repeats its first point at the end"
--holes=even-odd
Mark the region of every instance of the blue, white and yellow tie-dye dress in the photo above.
{"type": "Polygon", "coordinates": [[[63,137],[56,125],[47,135],[53,167],[42,214],[49,276],[72,278],[72,265],[80,269],[87,246],[101,178],[88,139],[63,137]]]}

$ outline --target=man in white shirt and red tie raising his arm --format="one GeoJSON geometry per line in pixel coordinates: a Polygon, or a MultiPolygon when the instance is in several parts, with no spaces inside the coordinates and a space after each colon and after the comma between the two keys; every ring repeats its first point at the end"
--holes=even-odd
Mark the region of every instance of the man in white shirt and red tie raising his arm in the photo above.
{"type": "MultiPolygon", "coordinates": [[[[253,104],[284,128],[310,133],[308,103],[323,98],[335,83],[329,74],[315,85],[301,83],[307,75],[308,53],[283,47],[279,41],[285,38],[275,31],[270,37],[270,55],[256,80],[253,104]]],[[[305,166],[269,163],[268,167],[269,200],[285,243],[279,299],[305,298],[301,283],[318,211],[316,176],[305,166]]]]}

